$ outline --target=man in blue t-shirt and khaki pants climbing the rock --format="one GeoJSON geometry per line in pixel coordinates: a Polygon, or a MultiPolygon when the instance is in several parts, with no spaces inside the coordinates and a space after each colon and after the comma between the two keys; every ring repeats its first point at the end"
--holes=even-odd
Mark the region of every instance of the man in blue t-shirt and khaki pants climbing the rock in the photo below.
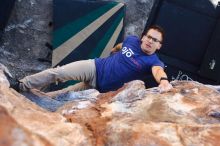
{"type": "MultiPolygon", "coordinates": [[[[164,64],[155,54],[162,45],[164,32],[159,26],[152,26],[139,39],[128,36],[123,43],[116,45],[113,55],[106,58],[82,60],[67,65],[47,69],[37,74],[26,76],[11,87],[16,90],[41,89],[57,81],[82,81],[71,87],[79,91],[96,88],[100,92],[117,90],[124,83],[142,80],[153,74],[162,92],[172,89],[164,72],[164,64]]],[[[9,80],[10,81],[10,80],[9,80]]]]}

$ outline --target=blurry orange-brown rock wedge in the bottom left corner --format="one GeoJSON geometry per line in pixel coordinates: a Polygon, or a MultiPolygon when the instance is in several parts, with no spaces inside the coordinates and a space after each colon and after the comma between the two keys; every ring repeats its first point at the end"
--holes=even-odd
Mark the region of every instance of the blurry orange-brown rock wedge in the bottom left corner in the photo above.
{"type": "Polygon", "coordinates": [[[0,106],[0,145],[2,146],[22,146],[22,145],[44,145],[51,146],[44,137],[28,131],[20,126],[3,108],[0,106]]]}

